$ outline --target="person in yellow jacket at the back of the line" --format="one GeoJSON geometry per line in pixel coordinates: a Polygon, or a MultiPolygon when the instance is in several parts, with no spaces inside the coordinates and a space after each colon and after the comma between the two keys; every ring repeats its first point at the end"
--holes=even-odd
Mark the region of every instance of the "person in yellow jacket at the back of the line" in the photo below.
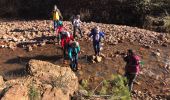
{"type": "Polygon", "coordinates": [[[53,22],[54,22],[54,31],[56,31],[56,28],[58,27],[59,20],[63,19],[60,10],[57,8],[56,5],[54,5],[54,10],[52,12],[53,15],[53,22]]]}

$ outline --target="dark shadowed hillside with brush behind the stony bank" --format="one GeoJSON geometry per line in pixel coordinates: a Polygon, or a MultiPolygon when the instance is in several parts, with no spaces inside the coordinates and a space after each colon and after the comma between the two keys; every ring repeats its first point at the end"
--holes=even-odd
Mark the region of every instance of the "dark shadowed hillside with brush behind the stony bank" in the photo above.
{"type": "Polygon", "coordinates": [[[83,21],[169,31],[169,0],[1,0],[0,18],[50,19],[54,4],[64,20],[80,14],[83,21]]]}

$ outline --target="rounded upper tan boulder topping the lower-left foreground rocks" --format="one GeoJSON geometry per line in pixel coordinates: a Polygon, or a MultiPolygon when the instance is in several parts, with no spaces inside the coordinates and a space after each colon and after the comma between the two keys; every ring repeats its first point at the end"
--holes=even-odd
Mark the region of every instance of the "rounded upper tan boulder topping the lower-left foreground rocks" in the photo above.
{"type": "Polygon", "coordinates": [[[61,85],[69,95],[73,95],[74,91],[78,89],[78,78],[70,67],[60,67],[45,61],[31,60],[28,63],[27,71],[40,81],[53,81],[56,85],[61,85]],[[61,82],[57,77],[61,77],[61,82]]]}

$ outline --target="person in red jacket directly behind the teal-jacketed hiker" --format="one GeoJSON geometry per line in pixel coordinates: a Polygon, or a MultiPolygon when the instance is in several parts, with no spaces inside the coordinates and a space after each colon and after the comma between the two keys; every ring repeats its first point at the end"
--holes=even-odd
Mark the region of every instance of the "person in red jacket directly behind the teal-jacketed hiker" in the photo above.
{"type": "Polygon", "coordinates": [[[71,40],[73,41],[74,38],[69,32],[67,32],[67,31],[62,32],[62,35],[61,35],[61,47],[63,49],[64,62],[65,62],[65,59],[66,59],[66,51],[68,50],[69,42],[71,40]]]}

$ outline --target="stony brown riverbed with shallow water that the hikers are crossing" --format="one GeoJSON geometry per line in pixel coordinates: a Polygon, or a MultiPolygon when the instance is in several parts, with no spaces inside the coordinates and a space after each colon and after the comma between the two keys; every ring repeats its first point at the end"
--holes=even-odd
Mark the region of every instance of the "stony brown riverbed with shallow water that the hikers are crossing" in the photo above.
{"type": "MultiPolygon", "coordinates": [[[[72,32],[70,22],[64,25],[72,32]]],[[[83,23],[85,37],[78,40],[81,46],[80,70],[75,72],[79,82],[88,80],[88,90],[93,91],[103,79],[112,74],[124,74],[121,54],[134,49],[142,58],[144,66],[134,85],[134,99],[168,99],[170,96],[170,36],[125,25],[83,23]],[[106,33],[102,57],[99,63],[88,60],[94,52],[87,38],[90,29],[99,25],[106,33]]],[[[55,44],[55,34],[50,20],[2,21],[0,23],[0,74],[5,81],[28,77],[26,64],[31,59],[63,64],[62,50],[55,44]]],[[[96,90],[95,94],[98,94],[96,90]]],[[[95,100],[95,99],[94,99],[95,100]]]]}

